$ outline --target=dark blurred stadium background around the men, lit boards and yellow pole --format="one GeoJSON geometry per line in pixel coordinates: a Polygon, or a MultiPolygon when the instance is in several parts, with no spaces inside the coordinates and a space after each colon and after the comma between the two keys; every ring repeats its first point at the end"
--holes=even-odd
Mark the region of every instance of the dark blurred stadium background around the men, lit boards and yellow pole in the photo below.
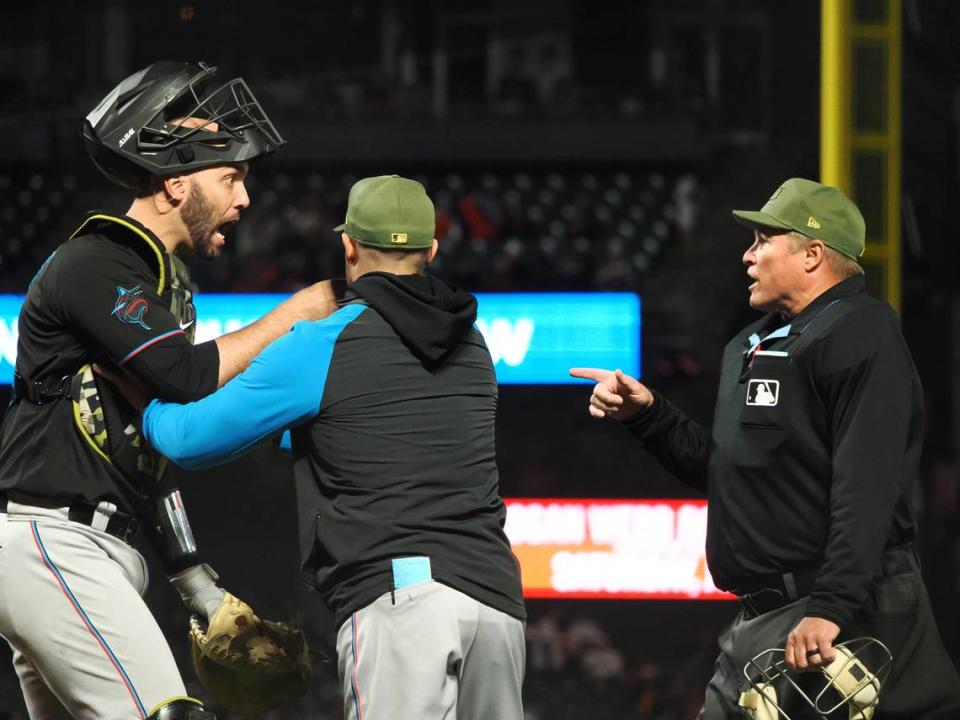
{"type": "MultiPolygon", "coordinates": [[[[290,291],[342,274],[329,228],[365,175],[420,178],[438,274],[474,291],[631,290],[643,377],[709,423],[726,339],[749,322],[733,207],[818,177],[819,3],[798,0],[91,1],[0,8],[0,292],[23,292],[90,209],[129,198],[78,124],[158,59],[242,75],[288,145],[201,291],[290,291]]],[[[957,243],[960,8],[903,6],[904,331],[927,393],[916,494],[941,632],[960,659],[957,243]]],[[[4,390],[3,392],[6,392],[4,390]]],[[[584,387],[501,388],[506,496],[693,497],[584,387]]],[[[319,680],[276,718],[339,716],[334,629],[297,576],[287,463],[260,450],[181,483],[222,583],[307,628],[319,680]],[[327,658],[325,660],[325,658],[327,658]]],[[[186,615],[155,571],[148,602],[187,669],[186,615]]],[[[692,718],[729,603],[531,601],[530,718],[692,718]]],[[[135,632],[135,628],[131,628],[135,632]]],[[[5,652],[5,651],[4,651],[5,652]]],[[[0,718],[25,717],[3,660],[0,718]]]]}

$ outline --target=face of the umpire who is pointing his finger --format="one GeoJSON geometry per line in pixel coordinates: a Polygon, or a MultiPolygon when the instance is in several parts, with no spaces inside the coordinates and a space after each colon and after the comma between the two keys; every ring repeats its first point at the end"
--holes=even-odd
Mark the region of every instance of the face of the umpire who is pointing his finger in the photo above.
{"type": "Polygon", "coordinates": [[[794,315],[802,299],[806,276],[805,253],[789,233],[754,230],[753,245],[743,254],[750,284],[750,307],[763,312],[794,315]]]}

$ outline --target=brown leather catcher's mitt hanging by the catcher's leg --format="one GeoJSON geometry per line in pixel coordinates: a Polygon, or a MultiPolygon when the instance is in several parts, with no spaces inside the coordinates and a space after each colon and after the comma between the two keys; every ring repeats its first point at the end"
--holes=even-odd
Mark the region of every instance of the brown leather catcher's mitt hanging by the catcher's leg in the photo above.
{"type": "Polygon", "coordinates": [[[238,715],[254,716],[296,702],[310,681],[310,653],[303,633],[261,620],[230,593],[204,632],[190,618],[190,645],[197,677],[211,697],[238,715]]]}

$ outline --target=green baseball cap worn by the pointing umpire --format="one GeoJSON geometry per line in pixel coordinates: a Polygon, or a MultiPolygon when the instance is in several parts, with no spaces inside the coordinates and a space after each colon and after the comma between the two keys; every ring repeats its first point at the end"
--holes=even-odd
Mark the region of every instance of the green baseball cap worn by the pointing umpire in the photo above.
{"type": "Polygon", "coordinates": [[[734,210],[734,219],[750,228],[795,230],[822,240],[827,247],[856,260],[863,255],[863,215],[840,188],[790,178],[760,210],[734,210]]]}

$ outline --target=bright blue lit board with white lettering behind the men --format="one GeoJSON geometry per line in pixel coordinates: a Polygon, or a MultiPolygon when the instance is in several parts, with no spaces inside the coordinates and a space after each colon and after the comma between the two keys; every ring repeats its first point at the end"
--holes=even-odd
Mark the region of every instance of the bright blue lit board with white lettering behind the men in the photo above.
{"type": "MultiPolygon", "coordinates": [[[[286,297],[198,294],[197,341],[237,330],[286,297]]],[[[632,293],[490,293],[477,300],[477,327],[502,384],[585,382],[569,377],[573,366],[640,372],[640,298],[632,293]]],[[[0,295],[3,384],[13,381],[22,302],[21,295],[0,295]]]]}

